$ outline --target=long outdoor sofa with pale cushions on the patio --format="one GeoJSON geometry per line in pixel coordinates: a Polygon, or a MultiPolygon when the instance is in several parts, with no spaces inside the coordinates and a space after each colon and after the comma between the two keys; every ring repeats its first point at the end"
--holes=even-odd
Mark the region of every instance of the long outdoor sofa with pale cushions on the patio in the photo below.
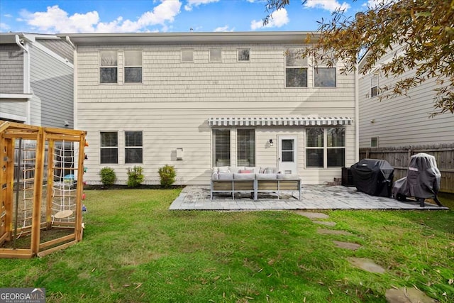
{"type": "Polygon", "coordinates": [[[282,192],[298,192],[301,199],[301,178],[285,175],[276,167],[213,167],[211,175],[211,200],[214,194],[224,193],[235,199],[235,194],[250,194],[255,200],[260,193],[275,193],[279,199],[282,192]]]}

